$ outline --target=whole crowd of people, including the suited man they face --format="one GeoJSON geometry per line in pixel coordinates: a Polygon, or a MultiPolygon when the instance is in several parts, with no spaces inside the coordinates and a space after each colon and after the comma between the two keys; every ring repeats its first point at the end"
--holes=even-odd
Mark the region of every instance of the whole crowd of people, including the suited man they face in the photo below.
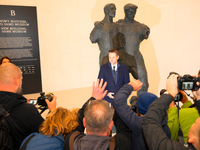
{"type": "Polygon", "coordinates": [[[56,108],[55,95],[51,95],[52,101],[46,99],[50,112],[45,120],[21,95],[23,77],[19,67],[11,60],[3,63],[2,59],[0,104],[22,131],[18,132],[10,125],[14,149],[200,150],[200,89],[192,91],[194,103],[180,91],[183,105],[177,107],[174,98],[179,93],[178,75],[172,74],[161,96],[150,92],[138,96],[135,112],[127,99],[132,91],[140,90],[143,83],[136,79],[127,81],[127,76],[117,74],[127,73],[126,66],[119,64],[118,59],[115,50],[109,51],[109,62],[104,66],[107,75],[103,75],[104,67],[101,68],[99,79],[93,82],[92,95],[82,108],[72,111],[56,108]],[[117,71],[113,66],[123,67],[117,71]],[[124,83],[118,80],[119,77],[124,83]],[[117,83],[121,85],[116,90],[117,83]],[[105,97],[109,97],[107,101],[105,97]],[[111,134],[113,126],[116,128],[114,135],[111,134]]]}

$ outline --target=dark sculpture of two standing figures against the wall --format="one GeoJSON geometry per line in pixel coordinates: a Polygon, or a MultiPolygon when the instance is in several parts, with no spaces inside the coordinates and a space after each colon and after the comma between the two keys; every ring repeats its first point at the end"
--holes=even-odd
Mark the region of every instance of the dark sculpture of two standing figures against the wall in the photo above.
{"type": "Polygon", "coordinates": [[[100,65],[108,62],[109,50],[114,48],[119,51],[120,63],[127,65],[132,76],[143,83],[142,88],[137,92],[139,96],[147,92],[149,87],[147,71],[139,47],[140,43],[148,38],[150,29],[145,24],[134,20],[137,8],[134,4],[126,4],[125,18],[113,22],[116,6],[113,3],[107,4],[104,7],[105,17],[95,23],[90,33],[90,40],[92,43],[98,43],[100,65]]]}

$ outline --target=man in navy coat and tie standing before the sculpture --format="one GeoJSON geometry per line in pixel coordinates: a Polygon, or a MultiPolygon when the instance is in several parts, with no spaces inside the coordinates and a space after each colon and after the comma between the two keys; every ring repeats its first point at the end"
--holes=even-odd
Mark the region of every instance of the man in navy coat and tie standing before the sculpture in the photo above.
{"type": "Polygon", "coordinates": [[[111,49],[108,53],[109,62],[102,65],[99,71],[98,79],[107,82],[108,94],[103,98],[104,100],[112,103],[112,100],[118,90],[130,82],[128,67],[118,62],[119,54],[116,49],[111,49]]]}

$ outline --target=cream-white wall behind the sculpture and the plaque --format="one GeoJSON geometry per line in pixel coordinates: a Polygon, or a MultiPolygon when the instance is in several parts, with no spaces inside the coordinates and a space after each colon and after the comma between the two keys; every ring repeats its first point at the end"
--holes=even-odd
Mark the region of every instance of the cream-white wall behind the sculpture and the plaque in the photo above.
{"type": "Polygon", "coordinates": [[[97,78],[99,49],[90,42],[89,34],[93,23],[103,19],[103,7],[111,2],[117,7],[115,21],[124,17],[126,3],[134,3],[139,7],[136,20],[151,28],[140,47],[149,92],[158,94],[165,88],[171,71],[197,74],[199,0],[1,0],[1,5],[37,7],[43,91],[63,91],[61,97],[66,97],[70,90],[80,100],[80,90],[91,90],[86,87],[97,78]]]}

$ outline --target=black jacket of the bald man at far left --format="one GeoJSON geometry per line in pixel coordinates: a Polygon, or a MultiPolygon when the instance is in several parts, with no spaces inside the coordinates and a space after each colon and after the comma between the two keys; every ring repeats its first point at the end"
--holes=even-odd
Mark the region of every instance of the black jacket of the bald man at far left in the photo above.
{"type": "Polygon", "coordinates": [[[10,126],[11,136],[16,149],[19,149],[21,142],[31,133],[38,132],[40,124],[44,119],[37,108],[26,103],[27,99],[22,95],[0,91],[0,104],[15,121],[23,133],[19,133],[10,126]]]}

